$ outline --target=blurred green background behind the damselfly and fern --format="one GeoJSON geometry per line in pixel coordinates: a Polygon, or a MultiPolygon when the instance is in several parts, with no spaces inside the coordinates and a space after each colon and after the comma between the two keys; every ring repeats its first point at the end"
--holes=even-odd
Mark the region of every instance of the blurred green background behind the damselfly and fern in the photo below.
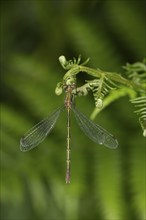
{"type": "MultiPolygon", "coordinates": [[[[65,112],[39,147],[19,150],[21,136],[63,103],[54,93],[65,74],[60,55],[82,54],[113,72],[144,58],[144,1],[1,0],[0,13],[1,219],[145,219],[145,140],[128,97],[95,119],[117,137],[117,150],[92,143],[72,117],[70,185],[65,112]]],[[[76,102],[87,115],[94,109],[91,95],[76,102]]]]}

